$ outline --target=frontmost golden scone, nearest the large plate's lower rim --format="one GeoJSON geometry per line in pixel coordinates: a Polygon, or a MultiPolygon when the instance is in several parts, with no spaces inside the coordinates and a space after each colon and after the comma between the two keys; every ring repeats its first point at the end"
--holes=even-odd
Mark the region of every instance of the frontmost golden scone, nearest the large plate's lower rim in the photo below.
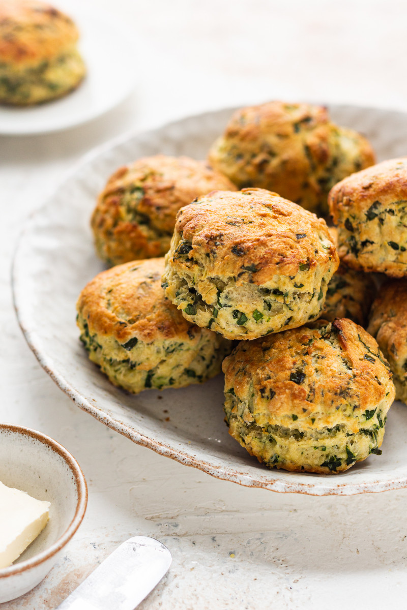
{"type": "Polygon", "coordinates": [[[351,320],[241,341],[222,368],[229,433],[268,467],[337,473],[381,453],[391,372],[351,320]]]}

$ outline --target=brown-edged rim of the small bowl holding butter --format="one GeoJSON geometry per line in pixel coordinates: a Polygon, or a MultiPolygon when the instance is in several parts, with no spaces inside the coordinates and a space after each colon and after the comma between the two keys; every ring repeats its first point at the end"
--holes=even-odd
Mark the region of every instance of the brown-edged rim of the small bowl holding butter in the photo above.
{"type": "Polygon", "coordinates": [[[2,431],[9,431],[15,434],[23,434],[24,436],[31,437],[57,453],[63,459],[63,461],[65,461],[73,474],[77,490],[77,503],[73,519],[71,519],[70,524],[68,525],[67,529],[65,529],[62,536],[60,536],[56,542],[54,542],[46,550],[35,554],[31,559],[21,561],[19,564],[12,564],[7,568],[1,568],[0,580],[2,578],[7,578],[7,576],[27,572],[27,570],[30,570],[31,568],[34,568],[37,565],[47,561],[58,553],[63,547],[65,547],[67,542],[69,542],[69,540],[73,537],[77,528],[79,528],[79,525],[81,525],[88,501],[88,488],[84,473],[82,472],[76,459],[67,449],[65,449],[65,447],[60,445],[60,443],[58,443],[56,440],[51,439],[51,437],[47,436],[46,434],[43,434],[43,432],[38,432],[37,430],[26,428],[25,426],[0,423],[0,434],[2,431]]]}

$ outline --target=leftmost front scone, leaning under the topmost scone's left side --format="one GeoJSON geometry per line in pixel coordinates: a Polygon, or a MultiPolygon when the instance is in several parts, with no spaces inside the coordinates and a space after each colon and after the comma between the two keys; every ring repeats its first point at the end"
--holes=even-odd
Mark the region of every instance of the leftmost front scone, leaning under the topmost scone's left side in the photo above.
{"type": "Polygon", "coordinates": [[[115,386],[202,383],[220,372],[230,342],[188,323],[161,287],[164,259],[134,260],[99,273],[82,290],[77,325],[89,358],[115,386]]]}

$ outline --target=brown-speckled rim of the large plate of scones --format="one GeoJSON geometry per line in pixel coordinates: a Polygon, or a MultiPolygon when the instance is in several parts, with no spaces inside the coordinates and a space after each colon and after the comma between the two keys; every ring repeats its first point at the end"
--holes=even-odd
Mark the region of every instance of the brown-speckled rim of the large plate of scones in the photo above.
{"type": "MultiPolygon", "coordinates": [[[[332,108],[332,106],[330,105],[332,108]]],[[[343,108],[343,106],[342,106],[343,108]]],[[[380,116],[380,112],[392,112],[393,114],[403,114],[397,113],[396,111],[384,111],[379,109],[366,109],[362,107],[353,107],[348,106],[349,109],[356,109],[359,112],[378,112],[380,116]]],[[[92,160],[99,157],[106,151],[110,149],[122,145],[134,138],[146,138],[150,134],[154,134],[159,131],[171,131],[171,128],[178,127],[182,125],[185,121],[190,120],[205,120],[207,117],[214,115],[215,113],[223,113],[226,115],[230,115],[234,108],[222,109],[222,110],[214,110],[207,113],[202,113],[200,115],[195,115],[193,117],[187,117],[178,121],[173,121],[172,123],[168,123],[163,127],[159,127],[157,129],[151,130],[149,132],[144,132],[142,134],[131,134],[125,135],[114,140],[99,146],[98,148],[93,149],[88,152],[82,160],[77,163],[71,171],[67,173],[65,179],[63,179],[59,187],[61,188],[65,183],[70,181],[71,178],[74,178],[76,173],[83,168],[88,163],[92,162],[92,160]]],[[[406,146],[407,148],[407,146],[406,146]]],[[[20,307],[20,303],[23,303],[23,294],[24,287],[20,284],[20,276],[18,273],[18,269],[20,265],[23,264],[23,261],[20,261],[21,255],[21,243],[24,240],[24,235],[30,230],[31,224],[34,221],[37,215],[40,215],[43,210],[48,207],[48,205],[52,204],[52,195],[48,198],[48,201],[41,206],[39,209],[35,210],[23,228],[23,231],[20,234],[20,239],[17,242],[15,256],[13,258],[12,265],[12,289],[13,289],[13,302],[16,310],[16,315],[18,318],[18,323],[20,324],[21,330],[23,331],[24,337],[26,341],[35,354],[38,362],[41,367],[44,368],[46,373],[56,382],[57,386],[65,392],[74,403],[77,404],[82,410],[88,412],[93,415],[99,422],[104,423],[109,428],[114,431],[123,434],[123,436],[128,437],[133,442],[138,445],[142,445],[143,447],[148,447],[152,449],[156,453],[174,459],[175,461],[180,462],[181,464],[198,468],[207,474],[214,476],[218,479],[223,479],[226,481],[231,481],[233,483],[240,484],[246,487],[260,487],[262,489],[268,489],[274,492],[279,493],[305,493],[306,495],[315,495],[315,496],[323,496],[323,495],[356,495],[358,493],[374,493],[374,492],[383,492],[387,490],[395,490],[402,489],[407,487],[407,465],[406,465],[406,473],[403,473],[403,476],[398,476],[391,480],[373,480],[373,481],[358,481],[358,482],[350,482],[343,479],[344,475],[311,475],[307,478],[310,478],[311,481],[298,482],[290,479],[291,473],[284,472],[284,478],[273,478],[273,471],[264,472],[264,468],[259,465],[259,474],[258,476],[247,475],[247,473],[242,472],[236,468],[232,467],[219,467],[217,465],[211,464],[211,461],[204,461],[203,459],[199,459],[196,455],[193,454],[192,450],[184,451],[179,448],[174,447],[170,443],[159,442],[155,439],[151,439],[149,436],[143,434],[140,430],[135,429],[128,424],[121,422],[117,418],[111,417],[107,414],[104,409],[99,409],[98,406],[92,404],[85,397],[82,396],[80,392],[78,392],[73,385],[65,379],[65,377],[55,368],[53,367],[52,357],[49,357],[47,354],[41,352],[38,348],[38,335],[35,330],[31,330],[29,320],[24,317],[24,308],[20,307]],[[262,476],[263,475],[263,476],[262,476]],[[266,476],[267,475],[267,476],[266,476]],[[341,481],[342,477],[342,481],[341,481]]],[[[281,475],[283,471],[279,470],[278,473],[281,475]]]]}

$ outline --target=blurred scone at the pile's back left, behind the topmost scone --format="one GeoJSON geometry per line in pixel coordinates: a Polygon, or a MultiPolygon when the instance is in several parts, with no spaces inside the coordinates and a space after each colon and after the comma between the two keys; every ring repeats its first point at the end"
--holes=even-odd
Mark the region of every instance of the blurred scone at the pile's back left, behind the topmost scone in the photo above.
{"type": "Polygon", "coordinates": [[[176,213],[214,189],[235,190],[206,162],[156,155],[120,168],[92,215],[96,251],[110,265],[164,256],[176,213]]]}

